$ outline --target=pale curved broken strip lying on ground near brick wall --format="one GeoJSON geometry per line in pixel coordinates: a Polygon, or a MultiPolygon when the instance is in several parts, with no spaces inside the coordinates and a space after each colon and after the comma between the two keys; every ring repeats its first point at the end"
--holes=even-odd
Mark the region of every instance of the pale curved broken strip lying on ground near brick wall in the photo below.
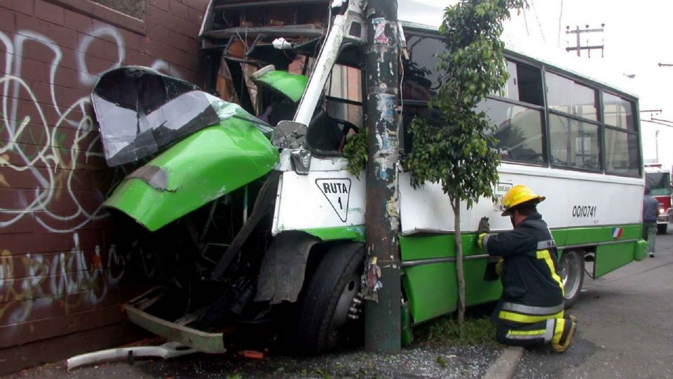
{"type": "Polygon", "coordinates": [[[100,364],[109,361],[134,359],[135,357],[175,358],[186,354],[193,354],[196,350],[181,343],[169,342],[160,346],[120,347],[117,349],[100,350],[77,355],[66,361],[67,370],[90,364],[100,364]]]}

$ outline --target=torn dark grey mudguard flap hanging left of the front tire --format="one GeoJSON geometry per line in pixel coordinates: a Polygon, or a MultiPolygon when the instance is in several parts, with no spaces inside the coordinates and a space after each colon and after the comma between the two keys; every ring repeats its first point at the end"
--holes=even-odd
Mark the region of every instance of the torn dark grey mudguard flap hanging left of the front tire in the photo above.
{"type": "Polygon", "coordinates": [[[254,300],[296,302],[304,284],[308,253],[319,242],[317,237],[297,230],[278,234],[261,262],[254,300]]]}

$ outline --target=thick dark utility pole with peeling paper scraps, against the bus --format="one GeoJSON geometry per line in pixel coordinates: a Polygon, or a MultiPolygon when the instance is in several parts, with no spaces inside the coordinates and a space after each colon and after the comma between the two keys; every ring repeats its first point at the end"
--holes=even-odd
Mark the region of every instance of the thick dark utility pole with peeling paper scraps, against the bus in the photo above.
{"type": "Polygon", "coordinates": [[[365,350],[400,352],[400,212],[397,187],[396,0],[367,5],[367,261],[365,350]]]}

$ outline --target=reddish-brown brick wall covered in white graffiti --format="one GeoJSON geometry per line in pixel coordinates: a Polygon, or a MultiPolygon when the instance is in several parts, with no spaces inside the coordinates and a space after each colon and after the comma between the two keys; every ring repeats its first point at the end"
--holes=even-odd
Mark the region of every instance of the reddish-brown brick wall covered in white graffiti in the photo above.
{"type": "MultiPolygon", "coordinates": [[[[102,157],[90,90],[102,72],[120,65],[197,83],[196,36],[207,5],[147,0],[144,20],[137,20],[88,0],[0,1],[4,362],[59,336],[119,335],[111,326],[123,321],[120,304],[137,293],[135,276],[145,267],[119,251],[114,225],[100,209],[121,173],[102,157]]],[[[30,359],[19,360],[25,366],[30,359]]]]}

